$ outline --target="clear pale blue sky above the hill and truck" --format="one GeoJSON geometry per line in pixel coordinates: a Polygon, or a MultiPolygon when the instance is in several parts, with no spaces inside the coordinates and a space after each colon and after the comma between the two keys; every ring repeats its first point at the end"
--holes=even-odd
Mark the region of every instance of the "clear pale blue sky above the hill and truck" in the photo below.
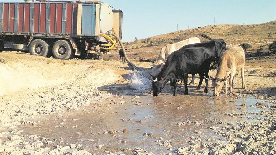
{"type": "MultiPolygon", "coordinates": [[[[23,0],[0,0],[22,2],[23,0]]],[[[213,24],[276,20],[276,0],[106,0],[123,10],[123,41],[213,24]]]]}

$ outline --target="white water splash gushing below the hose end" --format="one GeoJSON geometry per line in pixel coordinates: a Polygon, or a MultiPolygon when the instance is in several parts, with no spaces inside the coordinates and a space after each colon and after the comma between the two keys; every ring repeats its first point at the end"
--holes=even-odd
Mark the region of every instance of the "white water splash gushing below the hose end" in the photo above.
{"type": "Polygon", "coordinates": [[[130,74],[131,83],[129,85],[137,90],[149,90],[151,89],[151,80],[148,79],[148,76],[142,71],[130,74]]]}

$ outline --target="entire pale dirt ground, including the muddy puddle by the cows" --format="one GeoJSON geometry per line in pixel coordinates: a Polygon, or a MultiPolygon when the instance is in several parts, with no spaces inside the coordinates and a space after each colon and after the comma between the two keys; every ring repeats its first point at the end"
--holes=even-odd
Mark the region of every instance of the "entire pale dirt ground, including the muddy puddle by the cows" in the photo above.
{"type": "Polygon", "coordinates": [[[0,59],[1,155],[276,153],[275,56],[247,59],[246,90],[236,75],[235,95],[218,98],[204,82],[153,97],[152,63],[136,59],[136,74],[119,60],[0,59]]]}

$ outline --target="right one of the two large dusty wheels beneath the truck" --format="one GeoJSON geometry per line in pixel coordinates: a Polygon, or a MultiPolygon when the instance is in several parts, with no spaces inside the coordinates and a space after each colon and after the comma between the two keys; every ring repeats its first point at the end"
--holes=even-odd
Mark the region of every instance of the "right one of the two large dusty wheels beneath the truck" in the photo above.
{"type": "Polygon", "coordinates": [[[53,56],[57,59],[67,60],[72,55],[72,49],[70,44],[65,40],[58,40],[53,45],[53,56]]]}

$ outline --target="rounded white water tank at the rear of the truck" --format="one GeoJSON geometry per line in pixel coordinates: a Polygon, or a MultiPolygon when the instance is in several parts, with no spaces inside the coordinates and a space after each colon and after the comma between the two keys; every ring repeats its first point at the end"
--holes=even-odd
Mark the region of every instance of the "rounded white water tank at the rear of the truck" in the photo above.
{"type": "Polygon", "coordinates": [[[105,34],[107,31],[111,31],[113,20],[111,7],[105,2],[101,3],[100,32],[105,34]]]}

